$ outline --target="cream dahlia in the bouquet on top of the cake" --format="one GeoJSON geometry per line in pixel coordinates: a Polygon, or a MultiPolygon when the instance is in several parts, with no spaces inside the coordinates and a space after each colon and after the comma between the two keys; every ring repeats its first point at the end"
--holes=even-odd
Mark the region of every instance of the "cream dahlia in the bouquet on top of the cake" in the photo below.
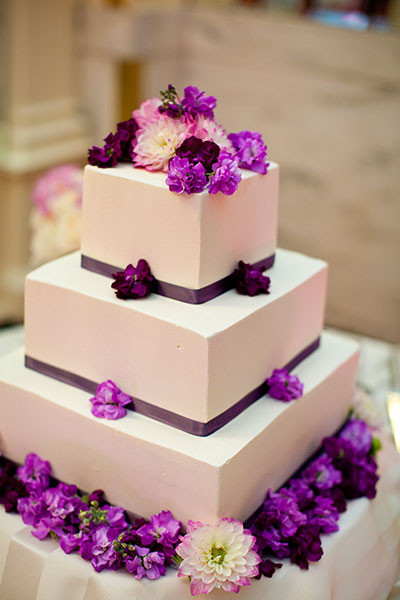
{"type": "Polygon", "coordinates": [[[162,116],[148,123],[136,135],[135,166],[148,171],[167,171],[168,161],[188,136],[187,125],[179,119],[162,116]]]}

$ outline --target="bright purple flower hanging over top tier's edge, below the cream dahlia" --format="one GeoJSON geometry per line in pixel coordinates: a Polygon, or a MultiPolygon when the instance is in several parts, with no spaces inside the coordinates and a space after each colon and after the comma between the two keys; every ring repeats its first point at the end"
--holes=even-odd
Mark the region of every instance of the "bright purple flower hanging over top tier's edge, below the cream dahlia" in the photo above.
{"type": "Polygon", "coordinates": [[[206,170],[203,165],[190,163],[187,158],[174,156],[169,161],[168,176],[165,183],[177,194],[197,194],[207,185],[206,170]]]}

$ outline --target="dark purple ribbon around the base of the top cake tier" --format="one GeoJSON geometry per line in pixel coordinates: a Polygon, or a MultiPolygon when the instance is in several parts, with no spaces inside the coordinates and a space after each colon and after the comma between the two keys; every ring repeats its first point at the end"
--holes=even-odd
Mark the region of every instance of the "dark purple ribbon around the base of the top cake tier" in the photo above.
{"type": "MultiPolygon", "coordinates": [[[[275,254],[272,254],[272,256],[268,256],[267,258],[253,263],[253,266],[262,267],[262,270],[266,271],[273,266],[274,261],[275,254]]],[[[89,271],[94,271],[94,273],[98,273],[99,275],[104,275],[105,277],[112,277],[113,273],[123,271],[120,267],[114,267],[113,265],[91,258],[85,254],[81,255],[81,267],[88,269],[89,271]]],[[[192,290],[181,285],[175,285],[174,283],[167,283],[166,281],[159,281],[156,279],[153,292],[159,296],[165,296],[166,298],[172,298],[173,300],[179,300],[180,302],[186,302],[188,304],[203,304],[204,302],[208,302],[209,300],[224,294],[228,290],[231,290],[234,287],[234,284],[233,273],[198,290],[192,290]]]]}

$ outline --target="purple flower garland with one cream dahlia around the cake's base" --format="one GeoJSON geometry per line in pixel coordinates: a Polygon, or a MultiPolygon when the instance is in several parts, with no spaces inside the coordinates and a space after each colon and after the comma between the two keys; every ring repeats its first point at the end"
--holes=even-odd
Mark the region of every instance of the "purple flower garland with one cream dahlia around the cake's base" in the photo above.
{"type": "Polygon", "coordinates": [[[321,536],[338,530],[347,501],[376,495],[379,439],[351,417],[277,492],[268,491],[249,528],[234,519],[189,521],[187,532],[170,511],[130,520],[101,490],[83,495],[51,477],[51,466],[29,454],[22,466],[0,458],[0,503],[18,512],[32,534],[50,536],[96,571],[125,569],[136,579],[158,579],[168,567],[188,577],[192,595],[238,592],[251,579],[272,577],[287,559],[301,569],[323,555],[321,536]]]}

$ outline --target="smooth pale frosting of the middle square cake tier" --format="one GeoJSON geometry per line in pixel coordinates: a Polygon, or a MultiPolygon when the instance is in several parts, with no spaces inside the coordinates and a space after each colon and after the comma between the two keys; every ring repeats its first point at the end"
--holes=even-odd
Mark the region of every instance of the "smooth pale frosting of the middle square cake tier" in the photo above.
{"type": "Polygon", "coordinates": [[[208,422],[306,348],[322,329],[327,266],[278,250],[271,293],[231,290],[193,306],[155,294],[115,297],[79,253],[26,281],[26,351],[37,360],[208,422]]]}

